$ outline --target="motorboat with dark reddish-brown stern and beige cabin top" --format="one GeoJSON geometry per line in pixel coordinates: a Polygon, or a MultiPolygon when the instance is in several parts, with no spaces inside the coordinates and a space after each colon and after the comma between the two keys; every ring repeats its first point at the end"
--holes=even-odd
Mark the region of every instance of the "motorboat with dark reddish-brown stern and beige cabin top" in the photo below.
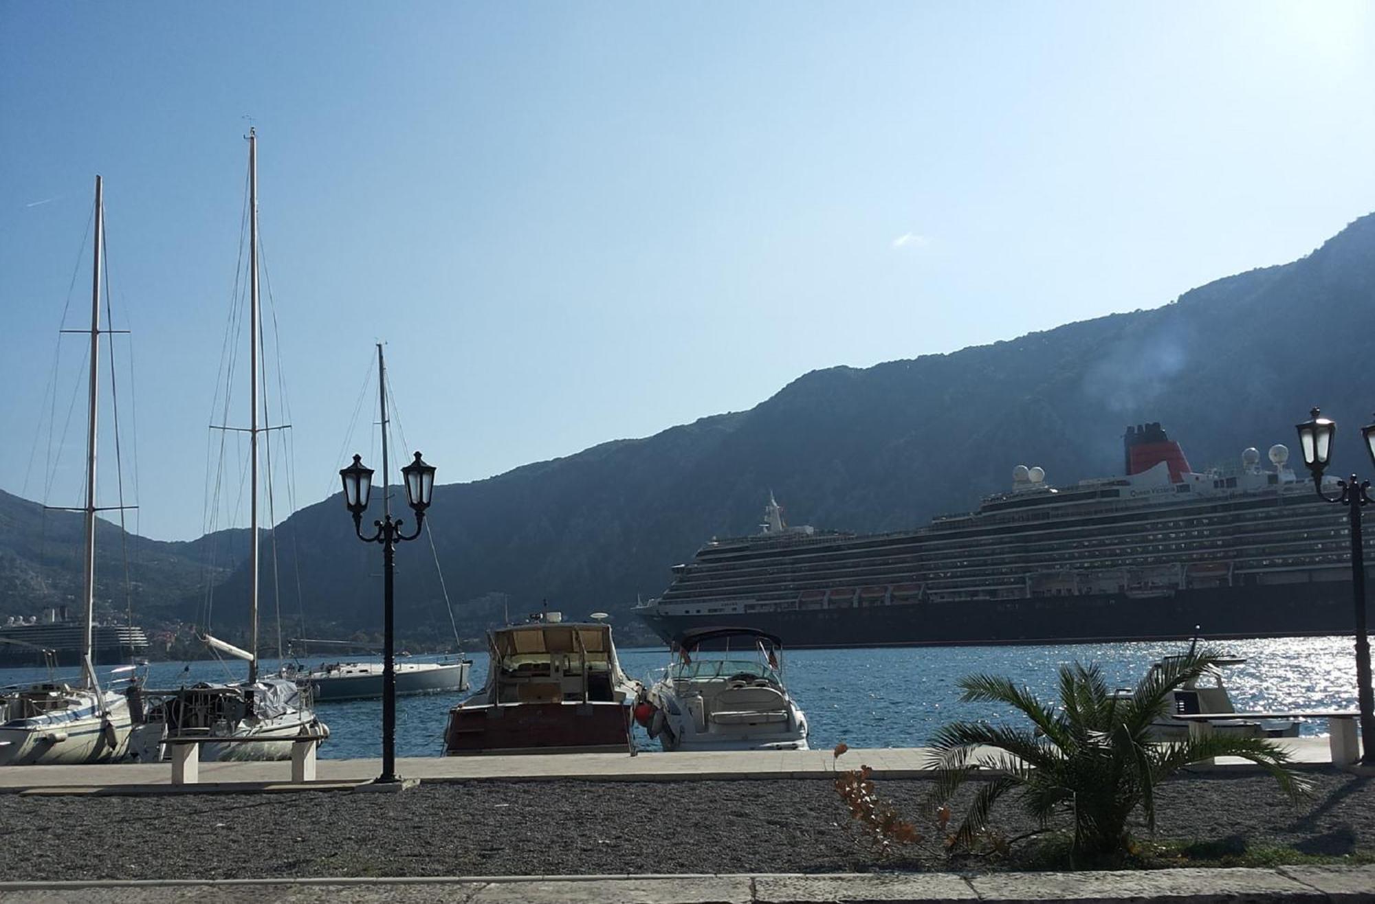
{"type": "Polygon", "coordinates": [[[550,611],[487,642],[487,684],[450,710],[446,754],[634,753],[644,688],[622,672],[610,625],[550,611]]]}

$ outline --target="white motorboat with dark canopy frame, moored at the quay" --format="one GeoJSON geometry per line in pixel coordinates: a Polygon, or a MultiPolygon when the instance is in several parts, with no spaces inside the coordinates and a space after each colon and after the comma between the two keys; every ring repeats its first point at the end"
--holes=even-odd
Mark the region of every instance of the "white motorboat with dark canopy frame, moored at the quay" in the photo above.
{"type": "Polygon", "coordinates": [[[807,717],[784,684],[778,637],[701,628],[670,648],[672,661],[637,712],[664,750],[807,749],[807,717]]]}

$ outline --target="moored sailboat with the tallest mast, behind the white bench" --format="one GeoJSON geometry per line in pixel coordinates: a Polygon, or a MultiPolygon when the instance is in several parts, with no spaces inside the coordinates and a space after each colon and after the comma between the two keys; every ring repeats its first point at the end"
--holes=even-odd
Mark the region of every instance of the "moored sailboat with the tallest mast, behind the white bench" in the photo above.
{"type": "Polygon", "coordinates": [[[327,735],[315,716],[309,688],[285,676],[258,675],[258,436],[271,427],[258,425],[258,240],[257,240],[257,133],[249,129],[249,648],[205,635],[205,643],[223,654],[248,661],[245,681],[202,681],[175,690],[136,688],[131,695],[135,721],[129,743],[139,760],[169,754],[166,738],[198,738],[201,760],[286,760],[300,735],[327,735]],[[223,738],[223,742],[217,739],[223,738]]]}

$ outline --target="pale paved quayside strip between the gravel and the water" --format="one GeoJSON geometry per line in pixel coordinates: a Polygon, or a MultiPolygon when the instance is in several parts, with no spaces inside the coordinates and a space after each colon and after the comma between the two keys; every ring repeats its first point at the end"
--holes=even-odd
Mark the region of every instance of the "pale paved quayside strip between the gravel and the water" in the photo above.
{"type": "MultiPolygon", "coordinates": [[[[1286,738],[1283,743],[1301,764],[1330,762],[1326,738],[1286,738]]],[[[572,753],[503,757],[408,757],[397,760],[397,773],[421,782],[591,779],[630,782],[682,782],[701,779],[804,779],[826,778],[836,769],[869,765],[876,778],[912,779],[930,775],[931,750],[877,747],[850,750],[836,760],[830,750],[751,750],[732,753],[572,753]]],[[[1244,760],[1224,757],[1218,768],[1247,767],[1244,760]]],[[[381,772],[381,760],[320,760],[316,780],[304,787],[349,786],[368,782],[381,772]]],[[[202,762],[201,790],[216,784],[290,786],[289,762],[202,762]]],[[[170,784],[168,764],[122,762],[113,765],[36,765],[0,769],[0,793],[92,793],[103,789],[170,784]]]]}

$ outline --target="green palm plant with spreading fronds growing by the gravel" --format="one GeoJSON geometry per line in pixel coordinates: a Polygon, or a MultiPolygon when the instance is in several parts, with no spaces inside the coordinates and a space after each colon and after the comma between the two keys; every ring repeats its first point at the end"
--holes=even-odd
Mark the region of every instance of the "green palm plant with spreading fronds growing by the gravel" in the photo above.
{"type": "Polygon", "coordinates": [[[1042,828],[1056,812],[1072,812],[1075,856],[1093,860],[1121,855],[1129,845],[1128,819],[1137,806],[1150,831],[1155,831],[1155,786],[1180,768],[1213,757],[1250,760],[1297,798],[1308,783],[1286,768],[1290,756],[1272,741],[1191,734],[1181,741],[1151,743],[1151,723],[1165,716],[1170,691],[1214,668],[1216,659],[1217,654],[1207,650],[1167,658],[1130,695],[1110,691],[1097,665],[1060,666],[1059,706],[1041,702],[1005,677],[962,679],[961,699],[1012,706],[1031,725],[960,721],[936,732],[938,802],[947,801],[975,769],[993,771],[974,795],[952,846],[972,848],[987,830],[994,802],[1016,791],[1042,828]]]}

